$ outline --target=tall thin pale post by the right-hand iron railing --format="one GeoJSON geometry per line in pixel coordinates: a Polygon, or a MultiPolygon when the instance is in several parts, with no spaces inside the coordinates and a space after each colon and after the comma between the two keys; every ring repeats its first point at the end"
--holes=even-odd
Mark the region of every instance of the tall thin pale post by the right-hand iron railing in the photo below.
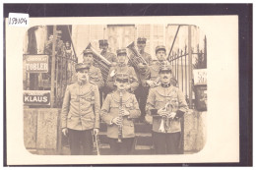
{"type": "Polygon", "coordinates": [[[188,26],[188,80],[189,80],[189,108],[192,106],[192,50],[191,50],[191,26],[188,26]]]}

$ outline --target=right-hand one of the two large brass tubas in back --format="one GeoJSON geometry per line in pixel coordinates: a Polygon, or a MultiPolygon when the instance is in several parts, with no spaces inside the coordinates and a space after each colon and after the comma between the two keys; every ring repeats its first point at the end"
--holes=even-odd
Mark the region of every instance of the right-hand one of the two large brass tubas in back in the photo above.
{"type": "Polygon", "coordinates": [[[139,67],[139,63],[147,65],[148,64],[147,61],[142,57],[142,55],[139,53],[138,49],[135,47],[134,41],[132,43],[130,43],[127,46],[127,48],[130,49],[131,52],[134,54],[133,56],[128,55],[130,63],[132,64],[132,66],[135,69],[141,71],[142,68],[139,67]],[[133,58],[131,58],[131,57],[133,57],[133,58]]]}

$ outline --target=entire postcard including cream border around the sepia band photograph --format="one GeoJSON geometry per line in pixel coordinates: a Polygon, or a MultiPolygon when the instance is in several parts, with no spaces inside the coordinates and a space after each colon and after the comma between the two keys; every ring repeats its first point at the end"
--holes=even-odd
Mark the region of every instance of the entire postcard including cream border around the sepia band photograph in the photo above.
{"type": "MultiPolygon", "coordinates": [[[[224,115],[222,91],[215,90],[220,73],[238,69],[237,60],[229,70],[224,58],[220,64],[225,53],[213,48],[221,30],[212,28],[216,21],[227,24],[220,33],[232,42],[226,51],[237,57],[237,18],[231,16],[31,18],[20,33],[6,26],[7,53],[8,40],[19,34],[22,79],[11,92],[21,96],[22,135],[15,144],[28,156],[25,162],[238,161],[239,114],[227,107],[224,115]],[[229,136],[229,146],[221,136],[229,136]],[[216,148],[222,156],[215,156],[216,148]],[[74,155],[79,159],[68,159],[74,155]]],[[[224,77],[224,88],[237,77],[224,77]]],[[[236,87],[228,91],[234,94],[230,106],[238,102],[236,87]]],[[[13,130],[8,134],[14,137],[13,130]]]]}

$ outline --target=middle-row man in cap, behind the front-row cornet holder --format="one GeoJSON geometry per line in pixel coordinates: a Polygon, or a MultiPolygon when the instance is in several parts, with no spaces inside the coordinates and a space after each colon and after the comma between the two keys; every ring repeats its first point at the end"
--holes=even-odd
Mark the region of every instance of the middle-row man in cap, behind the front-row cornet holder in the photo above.
{"type": "MultiPolygon", "coordinates": [[[[157,60],[152,61],[152,65],[149,67],[150,70],[150,78],[146,81],[147,85],[150,85],[151,87],[157,86],[160,84],[159,79],[159,72],[160,72],[160,66],[163,64],[169,64],[168,61],[166,61],[166,49],[165,46],[159,45],[156,47],[156,56],[157,60]]],[[[174,86],[178,86],[177,81],[174,77],[171,77],[170,80],[171,84],[174,86]]]]}

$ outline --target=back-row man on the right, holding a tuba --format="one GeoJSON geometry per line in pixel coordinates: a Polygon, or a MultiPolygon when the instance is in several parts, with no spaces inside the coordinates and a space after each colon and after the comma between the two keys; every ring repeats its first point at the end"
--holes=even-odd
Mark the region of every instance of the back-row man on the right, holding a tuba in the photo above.
{"type": "MultiPolygon", "coordinates": [[[[146,41],[147,41],[147,38],[138,37],[137,47],[139,50],[138,52],[141,54],[141,56],[147,62],[147,65],[145,63],[139,63],[138,67],[140,69],[138,70],[135,68],[139,86],[135,90],[134,93],[139,102],[139,107],[142,112],[141,117],[140,117],[141,122],[144,122],[145,115],[146,115],[145,106],[146,106],[147,96],[149,94],[149,86],[147,86],[146,80],[149,79],[149,77],[150,77],[150,72],[149,72],[148,67],[151,65],[151,62],[152,62],[151,55],[149,53],[145,52],[146,41]]],[[[134,53],[131,54],[131,57],[130,57],[131,59],[134,58],[133,55],[134,55],[134,53]]]]}

